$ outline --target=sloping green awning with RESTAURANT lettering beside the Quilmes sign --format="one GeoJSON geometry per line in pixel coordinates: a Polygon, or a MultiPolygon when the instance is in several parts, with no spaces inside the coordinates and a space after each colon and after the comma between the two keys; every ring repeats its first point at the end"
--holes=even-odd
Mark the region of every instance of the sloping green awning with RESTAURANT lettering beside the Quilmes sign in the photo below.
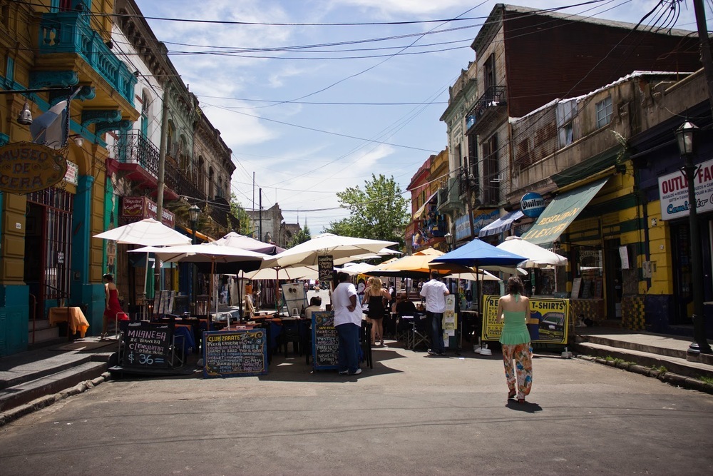
{"type": "Polygon", "coordinates": [[[552,243],[575,221],[592,198],[599,192],[609,178],[575,188],[573,191],[558,195],[545,208],[540,218],[522,238],[535,245],[552,243]]]}

